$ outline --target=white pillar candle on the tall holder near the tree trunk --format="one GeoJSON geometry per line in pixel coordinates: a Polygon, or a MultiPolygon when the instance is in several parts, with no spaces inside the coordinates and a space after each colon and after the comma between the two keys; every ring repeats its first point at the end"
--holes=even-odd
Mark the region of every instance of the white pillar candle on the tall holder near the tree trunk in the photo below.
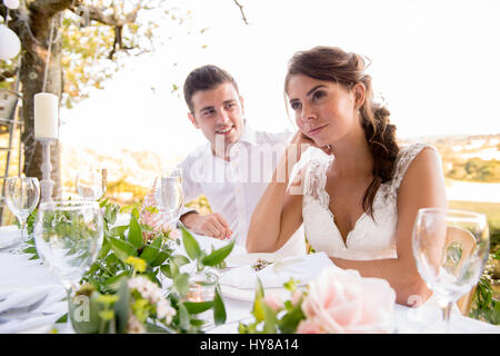
{"type": "Polygon", "coordinates": [[[34,138],[59,137],[59,98],[50,92],[34,95],[34,138]]]}

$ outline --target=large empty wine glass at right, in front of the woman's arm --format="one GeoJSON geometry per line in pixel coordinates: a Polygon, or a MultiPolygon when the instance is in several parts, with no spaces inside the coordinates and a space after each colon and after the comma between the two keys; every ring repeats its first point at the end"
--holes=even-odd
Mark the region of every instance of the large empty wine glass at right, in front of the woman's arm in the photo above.
{"type": "Polygon", "coordinates": [[[418,271],[433,291],[449,332],[453,304],[478,283],[488,259],[487,218],[464,210],[420,209],[412,246],[418,271]]]}

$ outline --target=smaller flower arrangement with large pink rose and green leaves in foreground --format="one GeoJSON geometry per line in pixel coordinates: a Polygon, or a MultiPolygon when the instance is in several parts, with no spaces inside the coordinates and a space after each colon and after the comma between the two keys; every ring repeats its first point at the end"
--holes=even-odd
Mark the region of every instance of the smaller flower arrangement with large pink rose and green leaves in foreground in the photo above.
{"type": "Polygon", "coordinates": [[[344,334],[393,332],[396,293],[380,278],[362,278],[357,270],[324,269],[304,289],[291,279],[284,284],[290,298],[256,293],[249,324],[239,325],[241,334],[344,334]]]}

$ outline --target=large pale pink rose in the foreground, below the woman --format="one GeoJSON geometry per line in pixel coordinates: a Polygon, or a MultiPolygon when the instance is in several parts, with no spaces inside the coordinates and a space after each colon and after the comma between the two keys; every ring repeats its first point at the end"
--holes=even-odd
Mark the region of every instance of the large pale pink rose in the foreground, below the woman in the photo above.
{"type": "Polygon", "coordinates": [[[324,333],[390,333],[394,301],[396,293],[384,279],[327,268],[309,284],[302,303],[308,324],[300,329],[312,329],[313,324],[324,333]]]}

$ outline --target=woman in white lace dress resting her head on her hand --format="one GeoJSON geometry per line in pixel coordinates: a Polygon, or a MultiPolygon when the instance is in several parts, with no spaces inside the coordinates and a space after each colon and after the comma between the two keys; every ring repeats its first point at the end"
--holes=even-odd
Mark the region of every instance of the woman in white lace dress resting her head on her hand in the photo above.
{"type": "Polygon", "coordinates": [[[411,233],[420,208],[447,206],[441,161],[424,144],[398,146],[364,69],[361,56],[330,47],[290,60],[284,91],[299,131],[253,211],[247,249],[276,251],[303,222],[314,250],[387,279],[397,303],[412,305],[431,295],[411,233]]]}

